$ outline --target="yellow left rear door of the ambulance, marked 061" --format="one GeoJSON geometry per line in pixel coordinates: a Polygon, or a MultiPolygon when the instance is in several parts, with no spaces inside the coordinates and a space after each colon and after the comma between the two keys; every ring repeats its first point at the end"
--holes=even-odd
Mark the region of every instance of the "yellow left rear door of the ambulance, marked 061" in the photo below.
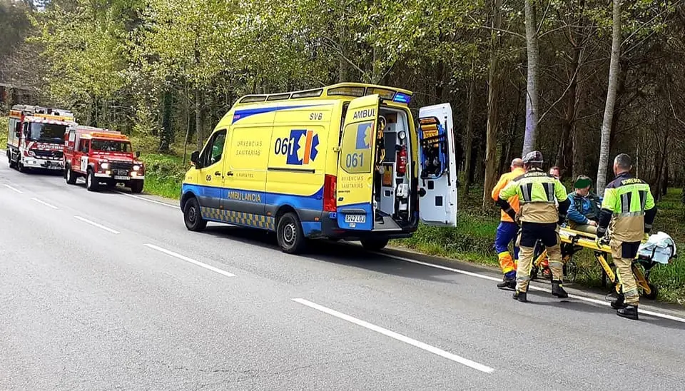
{"type": "Polygon", "coordinates": [[[350,102],[342,127],[338,157],[338,226],[372,230],[373,159],[378,120],[378,95],[350,102]]]}

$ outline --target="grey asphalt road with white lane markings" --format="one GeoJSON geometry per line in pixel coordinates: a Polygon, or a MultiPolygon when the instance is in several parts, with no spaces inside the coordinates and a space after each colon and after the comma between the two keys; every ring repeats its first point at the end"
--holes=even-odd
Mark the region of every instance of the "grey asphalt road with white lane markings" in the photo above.
{"type": "MultiPolygon", "coordinates": [[[[493,270],[188,232],[0,163],[0,390],[683,390],[685,315],[517,303],[493,270]]],[[[581,293],[577,293],[581,295],[581,293]]]]}

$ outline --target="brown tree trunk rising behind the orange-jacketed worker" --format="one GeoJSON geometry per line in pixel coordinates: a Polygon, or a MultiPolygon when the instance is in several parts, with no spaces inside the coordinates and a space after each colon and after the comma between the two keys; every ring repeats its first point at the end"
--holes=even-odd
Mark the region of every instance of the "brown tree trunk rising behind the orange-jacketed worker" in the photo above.
{"type": "Polygon", "coordinates": [[[490,69],[487,81],[487,130],[485,133],[485,181],[483,208],[497,181],[497,128],[499,126],[499,45],[497,30],[502,29],[502,0],[494,0],[493,31],[490,33],[490,69]]]}

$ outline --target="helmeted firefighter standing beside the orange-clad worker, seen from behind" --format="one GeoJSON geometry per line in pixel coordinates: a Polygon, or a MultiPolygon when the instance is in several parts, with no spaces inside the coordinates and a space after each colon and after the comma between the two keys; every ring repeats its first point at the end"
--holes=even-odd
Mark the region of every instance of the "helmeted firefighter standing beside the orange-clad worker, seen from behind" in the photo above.
{"type": "Polygon", "coordinates": [[[519,267],[516,272],[516,292],[514,300],[527,301],[530,269],[532,268],[534,246],[537,240],[547,248],[549,268],[552,270],[552,295],[557,298],[568,298],[562,283],[564,265],[562,251],[559,247],[559,225],[566,220],[570,201],[566,188],[554,176],[542,171],[542,153],[532,151],[523,158],[526,173],[509,183],[499,193],[499,206],[514,218],[515,213],[509,200],[519,196],[521,209],[519,220],[521,231],[518,237],[520,247],[519,267]],[[557,201],[559,209],[557,210],[557,201]]]}

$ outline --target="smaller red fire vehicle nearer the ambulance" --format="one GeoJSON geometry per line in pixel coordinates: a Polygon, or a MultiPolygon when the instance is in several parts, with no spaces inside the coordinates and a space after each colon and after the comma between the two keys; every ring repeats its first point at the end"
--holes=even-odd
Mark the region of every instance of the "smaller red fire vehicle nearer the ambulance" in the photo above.
{"type": "Polygon", "coordinates": [[[78,125],[64,134],[64,179],[73,185],[85,177],[88,191],[98,191],[101,183],[143,191],[145,169],[138,157],[131,140],[118,131],[78,125]]]}

